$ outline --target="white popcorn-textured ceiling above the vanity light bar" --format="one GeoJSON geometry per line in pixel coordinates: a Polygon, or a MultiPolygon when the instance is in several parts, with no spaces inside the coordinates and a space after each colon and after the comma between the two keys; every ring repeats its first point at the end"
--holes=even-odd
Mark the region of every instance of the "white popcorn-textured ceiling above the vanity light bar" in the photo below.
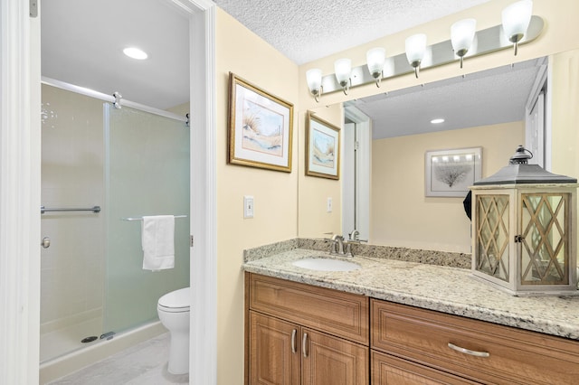
{"type": "Polygon", "coordinates": [[[488,1],[214,0],[225,12],[298,64],[488,1]]]}

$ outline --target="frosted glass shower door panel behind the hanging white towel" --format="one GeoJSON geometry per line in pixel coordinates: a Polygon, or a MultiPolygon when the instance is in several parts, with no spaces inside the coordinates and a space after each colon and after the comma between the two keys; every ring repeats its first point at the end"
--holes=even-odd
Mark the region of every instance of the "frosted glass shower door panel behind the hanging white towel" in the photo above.
{"type": "Polygon", "coordinates": [[[169,117],[110,104],[105,106],[105,127],[103,330],[119,333],[157,320],[158,298],[189,286],[189,127],[169,117]],[[144,215],[186,216],[175,220],[175,268],[143,269],[138,219],[144,215]]]}

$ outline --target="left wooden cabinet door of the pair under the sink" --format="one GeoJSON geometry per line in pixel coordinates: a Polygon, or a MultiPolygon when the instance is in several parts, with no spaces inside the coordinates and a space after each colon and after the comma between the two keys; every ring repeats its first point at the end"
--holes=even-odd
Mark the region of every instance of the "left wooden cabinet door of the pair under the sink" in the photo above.
{"type": "Polygon", "coordinates": [[[299,326],[250,312],[250,384],[299,385],[299,326]]]}

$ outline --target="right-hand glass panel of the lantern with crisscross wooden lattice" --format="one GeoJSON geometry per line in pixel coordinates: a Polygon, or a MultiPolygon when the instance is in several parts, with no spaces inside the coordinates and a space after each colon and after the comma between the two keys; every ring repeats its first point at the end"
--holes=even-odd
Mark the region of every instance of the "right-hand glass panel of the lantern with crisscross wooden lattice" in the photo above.
{"type": "Polygon", "coordinates": [[[567,193],[521,195],[521,285],[568,285],[567,193]]]}

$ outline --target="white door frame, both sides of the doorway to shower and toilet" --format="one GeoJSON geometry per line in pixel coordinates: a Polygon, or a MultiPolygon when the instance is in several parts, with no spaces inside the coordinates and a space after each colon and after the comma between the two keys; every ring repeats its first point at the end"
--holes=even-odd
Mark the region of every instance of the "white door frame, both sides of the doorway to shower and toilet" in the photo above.
{"type": "MultiPolygon", "coordinates": [[[[189,380],[215,384],[215,5],[210,0],[166,1],[191,14],[195,247],[189,380]]],[[[3,0],[0,5],[0,383],[6,384],[39,381],[41,50],[40,18],[30,17],[30,3],[3,0]]]]}

